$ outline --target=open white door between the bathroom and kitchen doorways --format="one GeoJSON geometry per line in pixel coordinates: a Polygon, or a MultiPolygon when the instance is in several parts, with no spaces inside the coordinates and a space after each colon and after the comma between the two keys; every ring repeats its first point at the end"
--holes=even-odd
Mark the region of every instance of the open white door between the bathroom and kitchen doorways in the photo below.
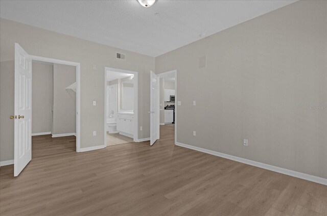
{"type": "Polygon", "coordinates": [[[150,145],[159,139],[159,77],[150,74],[150,145]]]}

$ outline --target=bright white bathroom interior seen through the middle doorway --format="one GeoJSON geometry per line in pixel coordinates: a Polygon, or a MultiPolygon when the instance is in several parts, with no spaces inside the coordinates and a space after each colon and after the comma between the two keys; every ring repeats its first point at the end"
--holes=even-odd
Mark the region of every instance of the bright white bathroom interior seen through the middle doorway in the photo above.
{"type": "Polygon", "coordinates": [[[107,146],[130,143],[134,139],[135,78],[128,72],[106,71],[107,146]]]}

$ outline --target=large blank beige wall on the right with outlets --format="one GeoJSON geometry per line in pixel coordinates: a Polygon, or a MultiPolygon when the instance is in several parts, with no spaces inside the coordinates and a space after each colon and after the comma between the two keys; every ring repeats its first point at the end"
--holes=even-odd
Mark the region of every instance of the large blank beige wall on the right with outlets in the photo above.
{"type": "Polygon", "coordinates": [[[177,69],[177,142],[327,178],[326,20],[299,1],[157,57],[177,69]]]}

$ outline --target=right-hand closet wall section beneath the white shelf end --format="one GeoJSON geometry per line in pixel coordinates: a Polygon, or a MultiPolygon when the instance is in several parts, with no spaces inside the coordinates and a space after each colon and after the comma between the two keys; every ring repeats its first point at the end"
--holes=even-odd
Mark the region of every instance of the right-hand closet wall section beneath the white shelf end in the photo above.
{"type": "Polygon", "coordinates": [[[52,134],[76,132],[76,92],[66,87],[76,82],[76,67],[53,65],[52,134]]]}

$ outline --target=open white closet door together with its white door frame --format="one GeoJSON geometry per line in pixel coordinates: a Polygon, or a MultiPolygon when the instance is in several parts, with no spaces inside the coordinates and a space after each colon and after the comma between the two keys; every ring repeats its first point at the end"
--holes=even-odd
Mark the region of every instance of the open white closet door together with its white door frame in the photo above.
{"type": "Polygon", "coordinates": [[[32,159],[32,61],[75,66],[76,151],[80,151],[80,64],[31,56],[15,43],[14,115],[10,116],[14,120],[14,176],[32,159]]]}

